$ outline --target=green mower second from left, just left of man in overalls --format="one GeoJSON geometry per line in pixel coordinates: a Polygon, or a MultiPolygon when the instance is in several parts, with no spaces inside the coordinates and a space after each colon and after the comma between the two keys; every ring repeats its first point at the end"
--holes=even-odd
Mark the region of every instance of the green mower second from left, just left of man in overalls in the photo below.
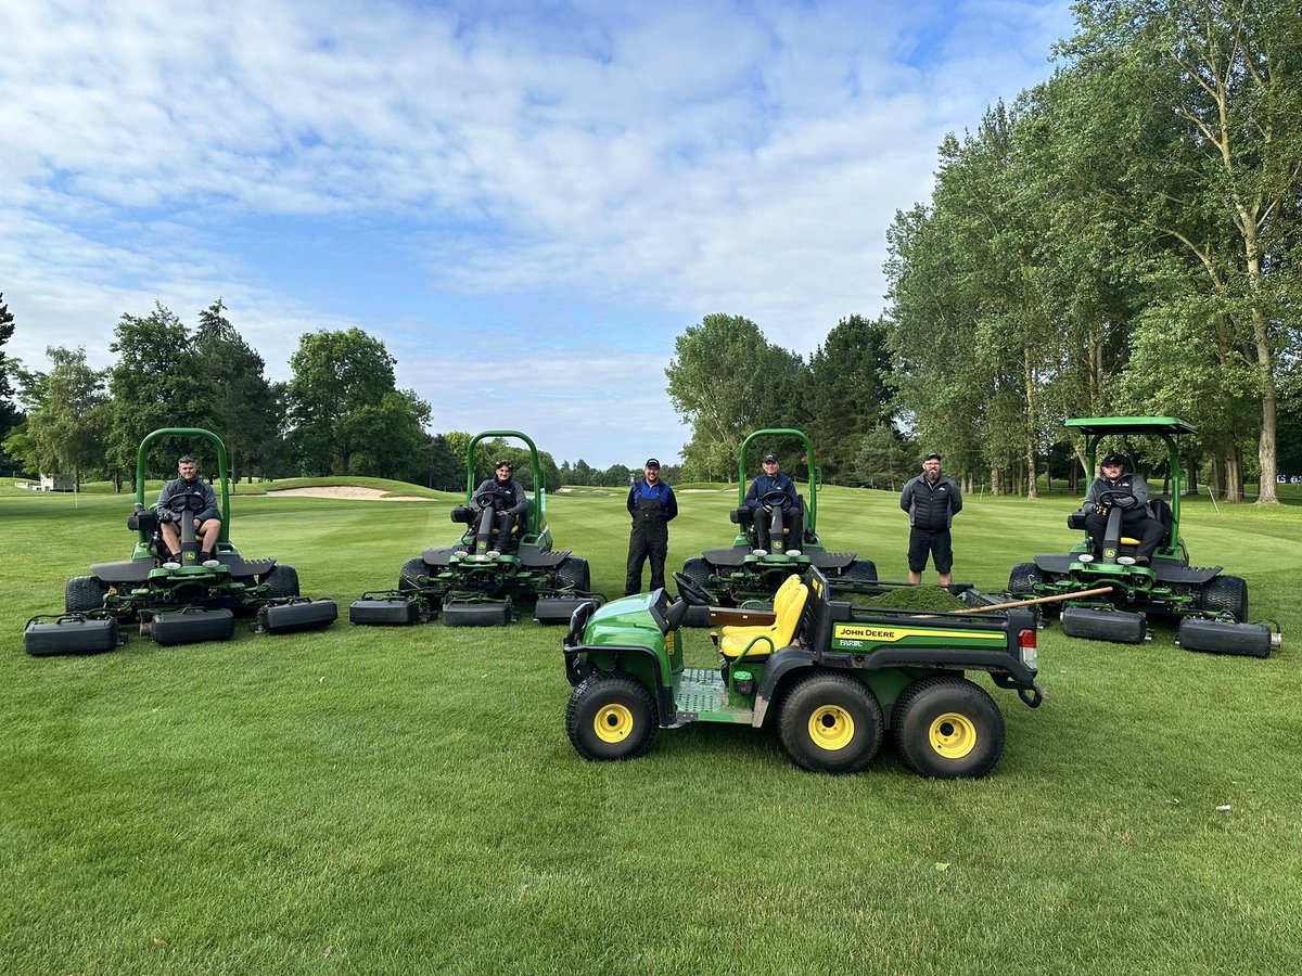
{"type": "Polygon", "coordinates": [[[538,448],[519,431],[484,431],[470,439],[466,504],[452,509],[452,521],[466,527],[461,539],[408,560],[397,590],[363,593],[349,619],[392,626],[441,616],[449,627],[501,626],[516,618],[516,603],[533,601],[539,623],[568,623],[581,604],[603,600],[591,592],[587,560],[569,549],[552,550],[538,448]],[[534,497],[506,537],[493,526],[493,513],[504,501],[475,489],[475,445],[487,437],[514,437],[529,445],[534,497]]]}

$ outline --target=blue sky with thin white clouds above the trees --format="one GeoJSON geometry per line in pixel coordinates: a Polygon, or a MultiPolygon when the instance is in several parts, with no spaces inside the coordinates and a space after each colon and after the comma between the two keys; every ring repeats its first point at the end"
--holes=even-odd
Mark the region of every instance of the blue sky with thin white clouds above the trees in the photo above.
{"type": "Polygon", "coordinates": [[[809,355],[883,306],[936,146],[1051,72],[1066,0],[0,4],[7,351],[107,366],[221,297],[288,379],[358,325],[432,429],[676,457],[682,331],[809,355]]]}

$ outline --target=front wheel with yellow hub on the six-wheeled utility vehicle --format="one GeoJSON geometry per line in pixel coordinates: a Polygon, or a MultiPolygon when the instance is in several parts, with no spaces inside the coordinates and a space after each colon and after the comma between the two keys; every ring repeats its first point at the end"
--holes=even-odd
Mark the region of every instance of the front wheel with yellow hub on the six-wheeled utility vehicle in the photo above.
{"type": "Polygon", "coordinates": [[[565,731],[583,759],[637,759],[651,748],[659,727],[655,701],[628,674],[596,671],[570,695],[565,731]]]}

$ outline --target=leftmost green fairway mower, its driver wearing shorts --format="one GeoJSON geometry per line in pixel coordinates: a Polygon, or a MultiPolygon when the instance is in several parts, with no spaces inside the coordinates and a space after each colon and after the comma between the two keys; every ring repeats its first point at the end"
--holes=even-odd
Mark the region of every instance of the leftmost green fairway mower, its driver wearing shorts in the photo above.
{"type": "MultiPolygon", "coordinates": [[[[27,652],[38,656],[92,653],[111,649],[117,626],[139,622],[141,635],[159,644],[229,640],[234,617],[256,616],[254,629],[288,634],[327,627],[339,609],[333,600],[299,596],[298,574],[275,558],[245,560],[230,543],[230,481],[227,449],[211,431],[165,427],[141,441],[135,461],[135,510],[126,521],[138,535],[132,558],[98,562],[90,575],[68,580],[64,614],[33,618],[26,631],[27,652]],[[145,457],[150,444],[164,436],[203,437],[216,450],[221,472],[221,535],[212,558],[201,561],[194,519],[204,508],[203,496],[173,496],[155,511],[145,505],[145,457]],[[180,530],[181,556],[172,561],[160,524],[180,530]]],[[[116,645],[116,644],[115,644],[116,645]]]]}

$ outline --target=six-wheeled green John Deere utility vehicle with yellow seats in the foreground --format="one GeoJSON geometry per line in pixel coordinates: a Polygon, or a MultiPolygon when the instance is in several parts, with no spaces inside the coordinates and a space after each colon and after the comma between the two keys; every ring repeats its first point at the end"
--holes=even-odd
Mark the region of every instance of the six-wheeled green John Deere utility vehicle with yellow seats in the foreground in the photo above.
{"type": "Polygon", "coordinates": [[[792,760],[814,772],[862,769],[889,733],[922,776],[988,773],[1004,748],[1004,717],[965,673],[986,671],[1038,707],[1035,613],[919,617],[829,596],[828,578],[807,566],[788,576],[771,612],[700,608],[664,590],[577,610],[565,638],[575,751],[634,759],[658,729],[725,722],[776,726],[792,760]],[[682,629],[693,623],[721,625],[711,634],[717,669],[684,666],[682,629]]]}

